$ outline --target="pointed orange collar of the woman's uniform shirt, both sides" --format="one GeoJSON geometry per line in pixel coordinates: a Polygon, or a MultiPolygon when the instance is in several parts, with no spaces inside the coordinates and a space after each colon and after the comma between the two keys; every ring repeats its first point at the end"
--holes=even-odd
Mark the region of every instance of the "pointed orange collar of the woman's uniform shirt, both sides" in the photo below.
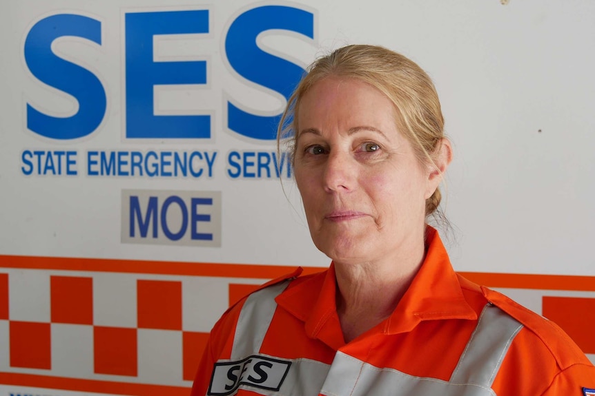
{"type": "MultiPolygon", "coordinates": [[[[395,311],[385,321],[384,333],[405,333],[423,320],[477,319],[476,312],[462,294],[438,232],[429,226],[426,243],[424,263],[395,311]]],[[[305,322],[309,337],[324,338],[327,344],[334,344],[332,339],[336,340],[337,329],[340,330],[334,263],[327,271],[294,282],[295,285],[277,297],[277,304],[305,322]]],[[[340,339],[342,342],[342,333],[340,339]]]]}

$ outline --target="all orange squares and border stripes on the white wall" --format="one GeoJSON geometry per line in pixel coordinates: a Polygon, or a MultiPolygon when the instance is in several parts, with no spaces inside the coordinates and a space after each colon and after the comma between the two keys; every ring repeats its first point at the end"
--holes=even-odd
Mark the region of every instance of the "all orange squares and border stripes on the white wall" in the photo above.
{"type": "MultiPolygon", "coordinates": [[[[320,270],[322,269],[306,268],[304,273],[320,270]]],[[[14,368],[14,371],[0,371],[0,384],[118,395],[185,396],[189,390],[188,381],[195,375],[195,368],[204,350],[208,333],[182,329],[182,282],[170,280],[171,275],[174,278],[175,275],[179,275],[237,279],[237,282],[228,283],[227,295],[231,305],[257,287],[257,284],[242,283],[245,280],[267,280],[290,271],[288,267],[282,266],[0,256],[0,321],[8,321],[10,368],[14,368]],[[7,271],[3,273],[2,268],[7,271]],[[50,276],[50,323],[10,320],[10,269],[49,270],[55,274],[50,276]],[[61,271],[64,271],[64,275],[61,271]],[[90,275],[72,276],[66,274],[68,271],[82,271],[90,275]],[[94,323],[92,273],[98,272],[168,276],[167,280],[142,277],[137,279],[137,327],[130,328],[94,323]],[[139,370],[138,331],[149,329],[182,332],[183,361],[179,386],[52,375],[52,324],[92,327],[94,373],[130,379],[137,377],[139,370]],[[19,371],[23,368],[37,371],[35,374],[19,371]],[[49,372],[45,375],[39,374],[40,370],[49,372]]],[[[494,273],[463,275],[474,282],[496,289],[595,291],[595,277],[494,273]]],[[[542,306],[543,315],[560,324],[585,353],[595,353],[595,342],[588,326],[585,325],[595,322],[595,298],[543,295],[542,306]]]]}

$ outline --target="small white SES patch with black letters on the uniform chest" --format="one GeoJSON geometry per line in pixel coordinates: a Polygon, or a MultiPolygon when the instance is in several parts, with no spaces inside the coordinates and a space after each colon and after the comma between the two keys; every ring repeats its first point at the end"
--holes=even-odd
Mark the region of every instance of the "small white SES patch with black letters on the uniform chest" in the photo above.
{"type": "Polygon", "coordinates": [[[217,362],[208,386],[208,396],[235,393],[240,385],[280,390],[291,362],[266,356],[248,356],[237,362],[217,362]]]}

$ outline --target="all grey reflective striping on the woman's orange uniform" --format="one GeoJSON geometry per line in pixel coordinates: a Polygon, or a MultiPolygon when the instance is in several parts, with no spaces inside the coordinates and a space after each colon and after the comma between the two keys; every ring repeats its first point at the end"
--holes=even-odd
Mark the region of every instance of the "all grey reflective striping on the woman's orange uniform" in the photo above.
{"type": "Polygon", "coordinates": [[[275,297],[284,291],[287,284],[289,281],[275,284],[248,297],[238,318],[231,359],[217,362],[221,367],[217,370],[228,368],[233,370],[232,375],[223,372],[217,379],[213,377],[213,393],[209,395],[233,395],[237,389],[245,389],[265,396],[494,396],[496,393],[491,385],[512,340],[523,327],[498,307],[487,304],[449,381],[414,377],[393,368],[378,368],[340,351],[335,354],[331,365],[311,359],[284,359],[261,354],[262,341],[277,309],[275,297]],[[277,366],[282,368],[283,364],[289,364],[286,376],[277,381],[280,382],[278,387],[266,388],[237,375],[244,367],[248,367],[246,373],[252,370],[250,364],[255,365],[260,357],[266,365],[259,366],[261,371],[254,373],[262,381],[267,374],[265,369],[270,370],[270,379],[277,366]],[[238,365],[244,364],[240,362],[242,359],[246,363],[240,368],[238,365]],[[249,359],[253,360],[248,364],[249,359]],[[267,363],[271,359],[278,359],[278,363],[267,363]],[[217,393],[215,390],[221,389],[221,386],[230,391],[217,393]]]}

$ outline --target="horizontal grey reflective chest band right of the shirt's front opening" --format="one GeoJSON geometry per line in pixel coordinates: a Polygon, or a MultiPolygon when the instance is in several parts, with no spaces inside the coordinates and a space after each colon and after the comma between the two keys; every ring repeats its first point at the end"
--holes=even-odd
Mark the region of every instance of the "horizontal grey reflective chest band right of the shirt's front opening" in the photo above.
{"type": "Polygon", "coordinates": [[[335,355],[320,391],[326,396],[494,396],[489,387],[452,384],[436,378],[414,377],[392,368],[378,368],[342,352],[335,355]]]}

